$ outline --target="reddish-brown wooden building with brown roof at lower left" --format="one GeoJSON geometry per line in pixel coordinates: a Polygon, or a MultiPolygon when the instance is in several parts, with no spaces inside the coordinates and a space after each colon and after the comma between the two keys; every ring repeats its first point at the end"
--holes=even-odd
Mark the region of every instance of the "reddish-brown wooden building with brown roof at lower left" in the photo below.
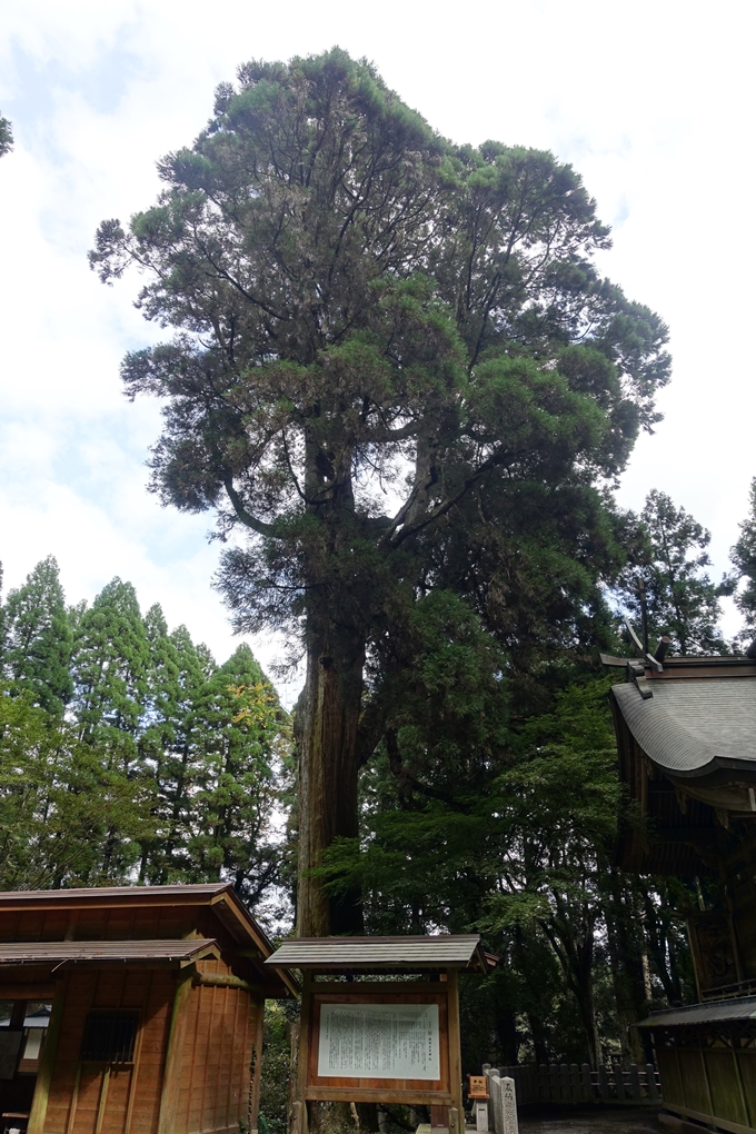
{"type": "Polygon", "coordinates": [[[228,883],[0,894],[0,1134],[252,1129],[271,953],[228,883]]]}

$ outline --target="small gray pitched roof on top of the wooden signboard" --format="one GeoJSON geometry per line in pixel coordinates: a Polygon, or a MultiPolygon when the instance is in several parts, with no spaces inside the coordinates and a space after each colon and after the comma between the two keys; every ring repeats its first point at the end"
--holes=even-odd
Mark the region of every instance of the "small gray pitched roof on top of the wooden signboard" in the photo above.
{"type": "Polygon", "coordinates": [[[477,933],[424,937],[299,937],[275,950],[266,965],[318,972],[418,972],[470,968],[490,972],[496,958],[477,933]]]}

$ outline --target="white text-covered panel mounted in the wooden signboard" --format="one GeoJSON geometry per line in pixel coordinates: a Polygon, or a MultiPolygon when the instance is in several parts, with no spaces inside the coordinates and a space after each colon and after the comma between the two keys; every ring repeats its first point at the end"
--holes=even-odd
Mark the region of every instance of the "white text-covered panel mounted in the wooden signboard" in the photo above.
{"type": "Polygon", "coordinates": [[[324,1004],[318,1076],[441,1078],[438,1004],[324,1004]]]}

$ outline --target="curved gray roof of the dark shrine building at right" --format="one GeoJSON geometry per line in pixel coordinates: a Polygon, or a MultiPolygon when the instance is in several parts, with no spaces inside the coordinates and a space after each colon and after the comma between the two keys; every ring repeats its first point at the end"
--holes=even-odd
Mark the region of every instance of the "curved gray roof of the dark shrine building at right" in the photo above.
{"type": "Polygon", "coordinates": [[[649,687],[648,700],[632,683],[612,686],[612,694],[654,763],[682,776],[756,770],[756,680],[655,680],[649,687]]]}

